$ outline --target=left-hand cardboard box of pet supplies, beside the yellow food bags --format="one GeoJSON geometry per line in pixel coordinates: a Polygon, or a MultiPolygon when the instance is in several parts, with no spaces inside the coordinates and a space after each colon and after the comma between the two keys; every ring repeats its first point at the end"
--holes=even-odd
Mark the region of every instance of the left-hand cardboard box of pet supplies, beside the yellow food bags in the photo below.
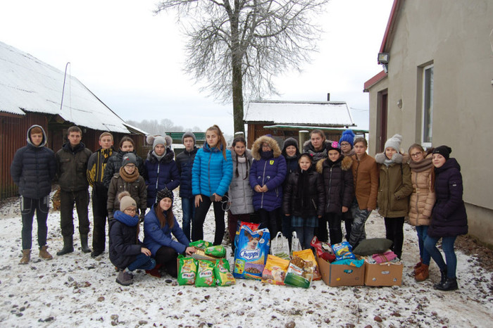
{"type": "Polygon", "coordinates": [[[334,265],[326,260],[317,258],[318,267],[325,284],[335,286],[363,286],[365,266],[351,267],[351,265],[334,265]]]}

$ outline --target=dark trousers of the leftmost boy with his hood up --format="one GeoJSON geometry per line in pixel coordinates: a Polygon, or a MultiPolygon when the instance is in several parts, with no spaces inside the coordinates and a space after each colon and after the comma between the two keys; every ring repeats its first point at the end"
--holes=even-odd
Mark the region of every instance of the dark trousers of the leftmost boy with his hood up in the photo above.
{"type": "Polygon", "coordinates": [[[48,227],[46,220],[48,218],[49,196],[41,199],[33,199],[20,197],[20,213],[23,217],[23,249],[31,249],[32,247],[32,218],[35,216],[37,220],[37,243],[39,248],[46,245],[46,234],[48,227]]]}

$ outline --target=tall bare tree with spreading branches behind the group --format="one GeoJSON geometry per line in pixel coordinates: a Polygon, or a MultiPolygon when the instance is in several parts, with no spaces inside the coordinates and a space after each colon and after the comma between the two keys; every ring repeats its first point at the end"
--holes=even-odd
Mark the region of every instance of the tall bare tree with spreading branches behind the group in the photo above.
{"type": "Polygon", "coordinates": [[[244,96],[277,94],[273,77],[309,61],[321,32],[314,14],[327,2],[164,0],[155,13],[176,10],[188,37],[185,71],[223,102],[232,97],[235,132],[244,132],[244,96]]]}

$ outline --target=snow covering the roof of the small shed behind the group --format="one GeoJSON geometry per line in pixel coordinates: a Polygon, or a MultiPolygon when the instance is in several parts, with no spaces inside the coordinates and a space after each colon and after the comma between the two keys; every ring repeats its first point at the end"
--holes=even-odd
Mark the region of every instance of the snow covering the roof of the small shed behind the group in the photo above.
{"type": "Polygon", "coordinates": [[[354,126],[345,101],[250,101],[244,121],[289,125],[354,126]]]}

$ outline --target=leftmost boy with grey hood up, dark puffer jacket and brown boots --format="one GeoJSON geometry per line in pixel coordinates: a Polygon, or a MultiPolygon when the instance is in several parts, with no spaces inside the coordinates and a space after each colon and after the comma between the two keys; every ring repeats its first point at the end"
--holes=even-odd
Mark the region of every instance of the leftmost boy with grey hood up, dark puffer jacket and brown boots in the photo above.
{"type": "Polygon", "coordinates": [[[51,180],[56,172],[55,153],[45,147],[46,134],[39,125],[32,125],[27,130],[27,146],[15,153],[11,165],[13,182],[19,187],[20,212],[23,217],[23,258],[19,264],[30,260],[32,246],[32,218],[36,211],[37,241],[39,257],[51,260],[46,251],[46,219],[49,210],[49,193],[51,180]]]}

